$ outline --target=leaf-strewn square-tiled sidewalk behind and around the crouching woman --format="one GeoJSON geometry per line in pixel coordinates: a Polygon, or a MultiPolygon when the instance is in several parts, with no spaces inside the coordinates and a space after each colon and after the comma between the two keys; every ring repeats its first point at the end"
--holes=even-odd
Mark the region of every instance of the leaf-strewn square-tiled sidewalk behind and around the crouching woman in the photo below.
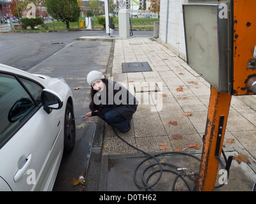
{"type": "MultiPolygon", "coordinates": [[[[130,91],[135,90],[140,101],[131,130],[120,136],[145,152],[183,150],[200,157],[210,84],[154,38],[116,39],[109,65],[107,77],[125,83],[130,91]],[[152,71],[123,73],[123,62],[148,62],[152,71]],[[188,147],[195,143],[196,149],[188,147]]],[[[233,160],[228,185],[218,191],[252,191],[256,182],[255,118],[255,110],[244,105],[238,96],[232,96],[223,147],[227,155],[248,156],[250,164],[233,160]]],[[[97,121],[86,191],[141,191],[132,175],[145,155],[117,138],[108,124],[97,121]]],[[[161,160],[177,161],[178,166],[195,171],[200,167],[200,161],[195,163],[184,156],[163,155],[161,160]]],[[[177,190],[187,191],[182,185],[177,190]]],[[[172,179],[164,175],[156,191],[170,191],[169,186],[172,187],[172,179]]]]}

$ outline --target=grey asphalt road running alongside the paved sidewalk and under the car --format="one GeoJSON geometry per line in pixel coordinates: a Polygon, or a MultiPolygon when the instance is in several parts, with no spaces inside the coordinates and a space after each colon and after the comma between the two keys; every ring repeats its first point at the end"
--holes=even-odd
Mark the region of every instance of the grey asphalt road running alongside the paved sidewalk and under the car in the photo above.
{"type": "MultiPolygon", "coordinates": [[[[153,31],[134,31],[134,36],[152,37],[153,31]]],[[[88,112],[90,87],[86,76],[92,70],[106,71],[112,42],[76,41],[81,36],[106,36],[104,31],[0,34],[0,63],[31,73],[63,77],[74,94],[75,117],[88,112]],[[74,89],[79,87],[79,89],[74,89]]],[[[64,154],[53,191],[81,191],[72,180],[84,175],[90,157],[95,118],[76,120],[76,145],[64,154]]]]}

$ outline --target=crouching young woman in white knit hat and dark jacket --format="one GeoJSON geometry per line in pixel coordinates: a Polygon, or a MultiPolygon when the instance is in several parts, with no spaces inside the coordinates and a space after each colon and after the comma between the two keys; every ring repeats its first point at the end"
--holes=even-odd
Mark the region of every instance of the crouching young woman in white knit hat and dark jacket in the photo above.
{"type": "Polygon", "coordinates": [[[92,87],[90,110],[84,117],[99,116],[102,120],[126,133],[136,112],[138,101],[124,86],[104,77],[99,71],[90,71],[87,82],[92,87]]]}

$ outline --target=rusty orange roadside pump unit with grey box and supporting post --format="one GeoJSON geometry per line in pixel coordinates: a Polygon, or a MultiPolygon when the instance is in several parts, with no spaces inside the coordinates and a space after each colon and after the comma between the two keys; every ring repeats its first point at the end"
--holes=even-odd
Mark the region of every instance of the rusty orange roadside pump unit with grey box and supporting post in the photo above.
{"type": "Polygon", "coordinates": [[[213,191],[232,96],[256,94],[254,0],[183,4],[187,63],[211,84],[198,191],[213,191]]]}

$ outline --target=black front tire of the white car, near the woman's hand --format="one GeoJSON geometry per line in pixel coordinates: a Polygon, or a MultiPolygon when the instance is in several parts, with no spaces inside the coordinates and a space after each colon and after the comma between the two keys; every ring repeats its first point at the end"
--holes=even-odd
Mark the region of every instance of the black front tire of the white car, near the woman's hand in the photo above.
{"type": "Polygon", "coordinates": [[[64,124],[64,150],[71,152],[76,143],[76,124],[74,119],[74,110],[70,103],[67,103],[65,110],[64,124]]]}

